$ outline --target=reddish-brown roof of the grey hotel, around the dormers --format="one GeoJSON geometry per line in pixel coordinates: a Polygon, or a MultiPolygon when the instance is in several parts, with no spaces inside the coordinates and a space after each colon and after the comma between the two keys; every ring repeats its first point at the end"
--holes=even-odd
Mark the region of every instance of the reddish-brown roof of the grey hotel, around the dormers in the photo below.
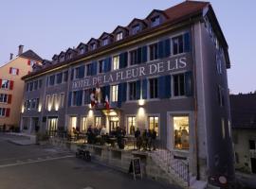
{"type": "MultiPolygon", "coordinates": [[[[75,56],[74,58],[72,58],[70,60],[64,60],[63,62],[56,63],[56,64],[51,65],[49,67],[46,67],[46,68],[44,68],[44,69],[42,69],[40,71],[32,72],[29,75],[23,77],[23,79],[26,79],[28,77],[35,77],[38,74],[44,73],[46,71],[50,71],[53,68],[57,68],[59,66],[64,66],[64,64],[70,65],[70,62],[74,62],[74,61],[79,61],[79,60],[85,59],[87,57],[90,57],[92,55],[95,55],[95,54],[101,52],[102,50],[113,48],[113,47],[116,47],[119,44],[128,43],[128,42],[130,42],[132,40],[137,40],[137,39],[139,39],[139,38],[141,38],[141,37],[143,37],[145,35],[155,33],[155,31],[159,31],[162,28],[167,28],[167,26],[174,26],[174,25],[177,25],[179,23],[188,21],[192,17],[202,15],[203,10],[205,8],[207,8],[207,6],[211,7],[209,2],[184,1],[183,3],[180,3],[180,4],[174,6],[174,7],[170,8],[170,9],[165,9],[163,11],[163,13],[164,13],[165,16],[167,16],[167,20],[163,24],[161,24],[159,26],[146,27],[144,30],[138,32],[136,35],[128,36],[128,37],[124,38],[123,40],[121,40],[119,42],[114,42],[114,43],[110,43],[110,44],[105,45],[105,46],[100,46],[99,48],[97,48],[97,49],[95,49],[93,51],[88,51],[88,52],[86,52],[83,55],[77,55],[77,56],[75,56]]],[[[210,10],[213,11],[212,9],[210,9],[210,10]]],[[[140,20],[140,21],[145,22],[144,20],[140,20]]],[[[118,27],[122,27],[122,26],[118,26],[118,27]]],[[[116,27],[116,29],[118,27],[116,27]]],[[[122,27],[122,28],[125,28],[125,27],[122,27]]],[[[114,32],[116,31],[116,29],[114,30],[114,32]]],[[[223,40],[225,41],[225,38],[223,40]]],[[[97,40],[95,38],[91,38],[88,43],[90,43],[92,41],[99,42],[99,40],[97,40]]]]}

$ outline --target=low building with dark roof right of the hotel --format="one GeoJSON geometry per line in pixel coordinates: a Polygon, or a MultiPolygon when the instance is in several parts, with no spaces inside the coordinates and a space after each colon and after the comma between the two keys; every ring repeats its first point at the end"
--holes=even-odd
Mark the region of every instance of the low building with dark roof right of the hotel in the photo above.
{"type": "Polygon", "coordinates": [[[256,94],[231,94],[235,168],[256,173],[256,94]]]}

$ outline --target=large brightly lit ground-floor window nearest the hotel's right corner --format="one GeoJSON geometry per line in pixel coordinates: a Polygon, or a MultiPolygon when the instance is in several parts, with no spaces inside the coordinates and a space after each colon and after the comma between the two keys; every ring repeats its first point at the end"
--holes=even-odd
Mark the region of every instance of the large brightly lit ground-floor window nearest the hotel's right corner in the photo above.
{"type": "Polygon", "coordinates": [[[174,116],[174,148],[190,148],[189,116],[174,116]]]}

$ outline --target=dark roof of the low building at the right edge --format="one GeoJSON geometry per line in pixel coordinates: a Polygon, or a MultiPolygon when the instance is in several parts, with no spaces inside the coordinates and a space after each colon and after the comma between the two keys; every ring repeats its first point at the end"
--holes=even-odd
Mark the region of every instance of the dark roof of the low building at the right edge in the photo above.
{"type": "Polygon", "coordinates": [[[256,129],[256,94],[231,94],[229,98],[232,128],[256,129]]]}

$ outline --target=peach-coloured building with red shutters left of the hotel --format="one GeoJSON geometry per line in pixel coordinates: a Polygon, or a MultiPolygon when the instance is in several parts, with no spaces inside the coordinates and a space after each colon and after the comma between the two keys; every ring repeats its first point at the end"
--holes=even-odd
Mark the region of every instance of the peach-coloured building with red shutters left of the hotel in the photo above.
{"type": "Polygon", "coordinates": [[[32,71],[33,64],[39,64],[42,59],[32,50],[23,52],[19,46],[18,55],[0,67],[0,126],[6,129],[19,128],[20,108],[23,101],[24,80],[32,71]]]}

